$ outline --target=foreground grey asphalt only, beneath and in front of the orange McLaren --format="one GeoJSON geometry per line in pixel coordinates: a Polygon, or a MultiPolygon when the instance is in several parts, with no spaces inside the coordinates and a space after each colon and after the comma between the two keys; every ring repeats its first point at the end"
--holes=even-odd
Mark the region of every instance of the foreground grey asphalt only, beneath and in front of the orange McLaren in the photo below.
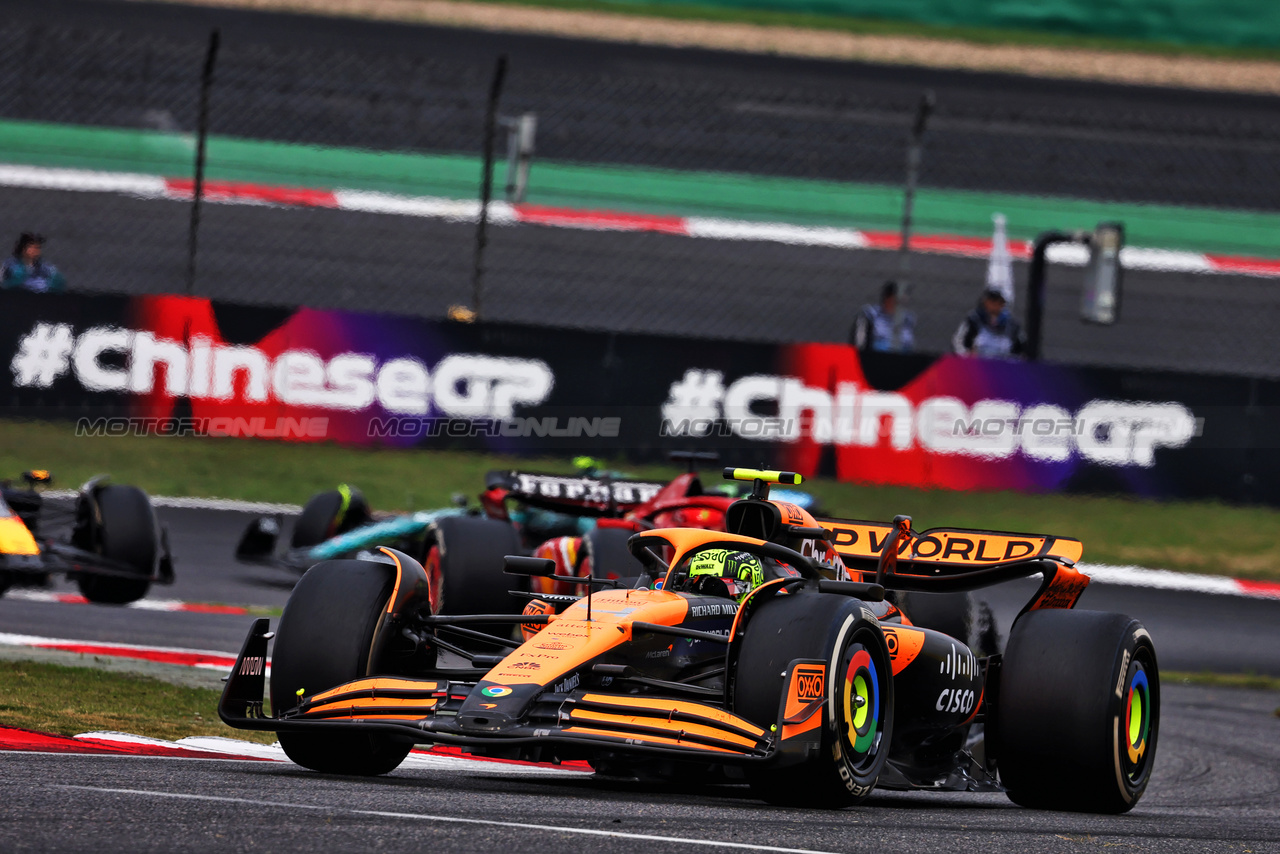
{"type": "Polygon", "coordinates": [[[1166,684],[1153,778],[1119,817],[1021,809],[1001,794],[876,793],[841,812],[777,809],[742,786],[479,763],[352,780],[279,763],[6,753],[0,850],[1262,854],[1280,850],[1277,703],[1275,693],[1166,684]]]}

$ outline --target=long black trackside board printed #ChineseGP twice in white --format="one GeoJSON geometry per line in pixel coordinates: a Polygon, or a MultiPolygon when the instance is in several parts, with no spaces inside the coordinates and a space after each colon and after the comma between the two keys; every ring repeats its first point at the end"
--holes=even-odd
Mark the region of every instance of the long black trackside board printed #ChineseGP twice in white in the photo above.
{"type": "Polygon", "coordinates": [[[870,484],[1280,503],[1274,382],[956,356],[864,364],[844,344],[188,297],[3,298],[6,414],[74,419],[90,435],[630,458],[717,449],[870,484]]]}

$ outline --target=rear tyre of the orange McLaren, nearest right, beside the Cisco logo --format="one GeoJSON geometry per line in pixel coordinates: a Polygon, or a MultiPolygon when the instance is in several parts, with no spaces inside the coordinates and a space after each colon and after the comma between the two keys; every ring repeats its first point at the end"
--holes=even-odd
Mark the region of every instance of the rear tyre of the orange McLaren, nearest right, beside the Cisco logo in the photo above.
{"type": "Polygon", "coordinates": [[[1129,812],[1151,780],[1160,732],[1151,635],[1119,613],[1033,611],[1010,631],[996,712],[1010,800],[1129,812]]]}

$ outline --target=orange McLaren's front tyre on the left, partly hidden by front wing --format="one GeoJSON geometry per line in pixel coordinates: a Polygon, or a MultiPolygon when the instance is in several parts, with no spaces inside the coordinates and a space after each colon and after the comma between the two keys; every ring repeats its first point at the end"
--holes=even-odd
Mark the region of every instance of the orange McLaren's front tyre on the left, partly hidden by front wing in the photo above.
{"type": "MultiPolygon", "coordinates": [[[[374,561],[325,561],[298,580],[284,606],[271,654],[271,711],[374,675],[374,630],[390,598],[394,570],[374,561]]],[[[375,776],[394,771],[413,746],[366,732],[280,732],[285,755],[324,773],[375,776]]]]}

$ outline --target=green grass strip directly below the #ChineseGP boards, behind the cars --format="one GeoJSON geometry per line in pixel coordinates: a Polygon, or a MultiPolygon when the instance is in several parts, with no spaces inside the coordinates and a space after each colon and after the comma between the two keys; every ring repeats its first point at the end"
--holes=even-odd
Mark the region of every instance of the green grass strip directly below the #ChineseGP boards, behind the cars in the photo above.
{"type": "MultiPolygon", "coordinates": [[[[669,478],[673,466],[616,467],[669,478]]],[[[570,470],[568,462],[458,451],[392,451],[333,444],[206,438],[76,438],[72,424],[0,421],[0,474],[52,470],[74,487],[110,472],[159,495],[200,495],[302,503],[338,483],[358,485],[379,510],[448,506],[472,499],[484,472],[502,467],[570,470]]],[[[805,488],[835,516],[888,520],[911,515],[919,528],[941,525],[1051,533],[1084,542],[1087,561],[1280,580],[1280,511],[1220,502],[1156,502],[1120,497],[960,493],[864,487],[814,479],[805,488]]],[[[228,543],[228,548],[232,544],[228,543]]]]}

